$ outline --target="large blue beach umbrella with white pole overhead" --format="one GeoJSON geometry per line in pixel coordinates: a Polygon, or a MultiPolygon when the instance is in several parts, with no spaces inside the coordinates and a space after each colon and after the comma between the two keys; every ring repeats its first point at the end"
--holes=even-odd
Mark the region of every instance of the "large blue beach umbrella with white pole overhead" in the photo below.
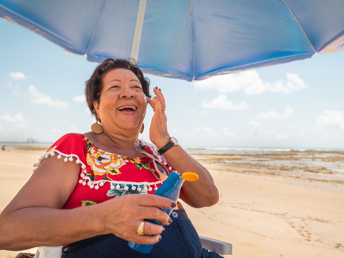
{"type": "Polygon", "coordinates": [[[189,81],[344,48],[342,0],[0,0],[0,17],[89,61],[189,81]]]}

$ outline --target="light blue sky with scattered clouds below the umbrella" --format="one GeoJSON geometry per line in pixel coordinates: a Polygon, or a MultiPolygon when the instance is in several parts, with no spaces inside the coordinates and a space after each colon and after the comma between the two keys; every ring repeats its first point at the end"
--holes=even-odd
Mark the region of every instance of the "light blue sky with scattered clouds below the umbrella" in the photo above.
{"type": "MultiPolygon", "coordinates": [[[[3,19],[0,35],[0,142],[90,131],[84,87],[97,63],[3,19]]],[[[147,77],[183,147],[344,149],[344,51],[199,82],[147,77]]]]}

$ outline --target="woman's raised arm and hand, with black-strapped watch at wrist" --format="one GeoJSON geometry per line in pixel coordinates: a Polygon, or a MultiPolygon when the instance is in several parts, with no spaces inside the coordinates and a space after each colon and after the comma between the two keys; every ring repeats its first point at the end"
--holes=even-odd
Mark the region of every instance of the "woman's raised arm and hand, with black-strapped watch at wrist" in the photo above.
{"type": "MultiPolygon", "coordinates": [[[[157,98],[149,99],[148,103],[154,110],[154,116],[150,127],[151,141],[161,149],[170,140],[167,131],[167,118],[165,113],[165,99],[160,89],[153,89],[157,98]]],[[[219,194],[214,180],[209,171],[194,160],[181,146],[174,146],[163,154],[166,161],[174,170],[182,174],[191,171],[198,174],[199,179],[195,182],[184,182],[180,198],[195,208],[212,206],[218,202],[219,194]]]]}

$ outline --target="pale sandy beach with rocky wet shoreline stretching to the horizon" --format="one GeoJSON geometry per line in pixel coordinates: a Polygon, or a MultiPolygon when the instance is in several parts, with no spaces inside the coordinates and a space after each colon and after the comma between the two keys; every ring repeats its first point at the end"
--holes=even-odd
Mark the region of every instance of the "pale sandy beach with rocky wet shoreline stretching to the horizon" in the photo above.
{"type": "MultiPolygon", "coordinates": [[[[45,150],[0,151],[0,211],[45,150]]],[[[233,244],[224,257],[344,257],[344,152],[206,152],[189,153],[212,174],[219,202],[184,208],[200,236],[233,244]]],[[[0,250],[0,258],[19,252],[0,250]]]]}

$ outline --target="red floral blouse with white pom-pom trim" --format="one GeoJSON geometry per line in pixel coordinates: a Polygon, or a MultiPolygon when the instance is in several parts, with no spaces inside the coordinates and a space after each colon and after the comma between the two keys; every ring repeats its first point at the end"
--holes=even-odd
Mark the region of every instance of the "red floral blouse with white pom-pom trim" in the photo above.
{"type": "MultiPolygon", "coordinates": [[[[139,143],[154,155],[148,146],[151,144],[143,141],[139,143]]],[[[127,194],[153,194],[163,182],[158,181],[148,169],[150,158],[127,157],[100,150],[79,133],[62,136],[34,166],[49,155],[57,155],[62,162],[81,164],[79,183],[62,209],[93,205],[127,194]]],[[[162,162],[171,172],[165,160],[162,162]]],[[[183,206],[178,202],[176,208],[181,209],[183,206]]]]}

